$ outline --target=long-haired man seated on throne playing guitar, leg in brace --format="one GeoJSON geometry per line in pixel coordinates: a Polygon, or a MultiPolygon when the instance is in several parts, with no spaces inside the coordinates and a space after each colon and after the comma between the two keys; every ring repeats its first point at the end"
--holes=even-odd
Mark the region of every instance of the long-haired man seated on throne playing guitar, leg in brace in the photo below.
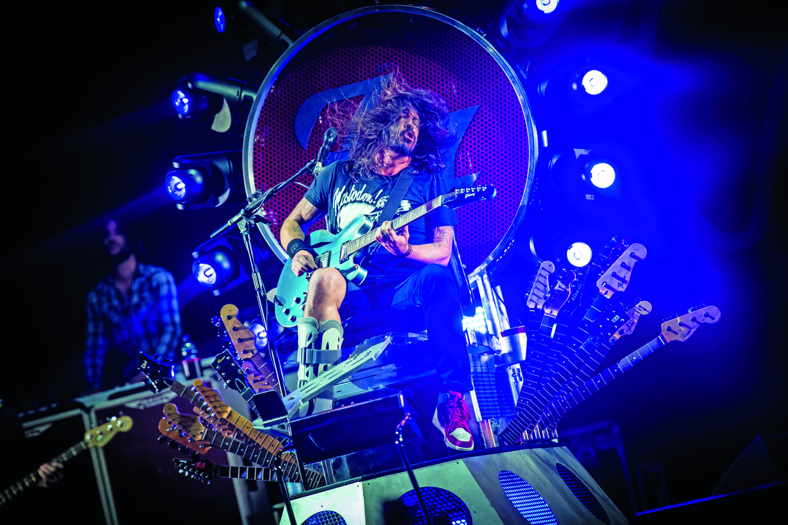
{"type": "MultiPolygon", "coordinates": [[[[440,394],[433,423],[444,432],[449,448],[469,451],[474,441],[463,393],[473,385],[462,309],[455,280],[446,267],[454,242],[452,227],[457,223],[454,210],[440,207],[401,231],[392,228],[391,220],[382,222],[365,264],[369,274],[360,287],[346,281],[335,268],[318,268],[304,242],[304,231],[324,215],[331,233],[361,214],[377,222],[406,169],[412,175],[411,184],[396,215],[448,192],[448,181],[440,177],[445,168],[441,147],[451,136],[447,114],[448,106],[440,96],[410,87],[395,76],[377,106],[360,110],[349,123],[348,160],[322,169],[283,222],[280,238],[292,258],[293,273],[311,274],[303,318],[297,322],[299,385],[339,362],[342,318],[385,307],[422,307],[429,341],[440,356],[440,394]]],[[[323,403],[323,409],[330,408],[330,399],[323,403]]]]}

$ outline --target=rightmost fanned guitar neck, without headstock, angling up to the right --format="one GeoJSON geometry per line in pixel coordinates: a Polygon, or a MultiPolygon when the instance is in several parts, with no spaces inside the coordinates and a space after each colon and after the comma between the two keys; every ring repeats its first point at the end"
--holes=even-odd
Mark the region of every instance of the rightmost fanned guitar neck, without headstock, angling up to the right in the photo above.
{"type": "Polygon", "coordinates": [[[556,428],[559,420],[564,414],[587,400],[594,393],[599,392],[605,385],[608,385],[615,378],[618,378],[621,374],[626,372],[626,370],[640,363],[643,359],[655,352],[657,348],[663,346],[663,344],[665,344],[665,340],[660,335],[656,337],[656,339],[641,346],[641,348],[637,348],[637,350],[624,359],[621,359],[618,363],[615,363],[615,365],[602,370],[599,374],[578,386],[578,388],[571,390],[571,392],[562,397],[556,397],[556,399],[551,400],[542,413],[540,426],[545,429],[556,428]]]}

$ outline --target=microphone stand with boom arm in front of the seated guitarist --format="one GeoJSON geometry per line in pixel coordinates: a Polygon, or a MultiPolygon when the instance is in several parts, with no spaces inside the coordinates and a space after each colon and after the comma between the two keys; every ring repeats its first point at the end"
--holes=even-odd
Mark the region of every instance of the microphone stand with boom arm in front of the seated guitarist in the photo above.
{"type": "Polygon", "coordinates": [[[279,395],[282,397],[282,399],[284,399],[284,397],[287,395],[287,390],[284,387],[284,372],[282,371],[282,363],[279,360],[277,344],[273,335],[268,329],[268,300],[266,298],[266,289],[262,284],[262,277],[260,277],[260,270],[258,270],[257,263],[255,262],[255,251],[251,244],[251,228],[253,228],[257,222],[270,224],[271,222],[267,218],[257,215],[258,210],[260,210],[262,205],[268,202],[273,197],[273,195],[281,192],[282,188],[289,186],[295,182],[297,178],[314,169],[314,166],[317,162],[317,159],[310,160],[310,162],[307,162],[306,166],[303,166],[303,168],[299,169],[286,181],[282,181],[276,186],[269,188],[266,190],[266,192],[255,192],[251,197],[247,198],[248,204],[245,207],[235,214],[235,216],[233,216],[228,222],[222,225],[221,228],[210,234],[210,238],[215,239],[217,236],[225,233],[234,225],[238,225],[238,229],[240,229],[241,236],[243,237],[243,245],[247,249],[249,263],[251,263],[251,280],[255,285],[255,295],[257,296],[257,305],[260,309],[260,318],[262,319],[263,326],[266,327],[266,333],[268,334],[269,354],[271,356],[271,363],[273,363],[273,370],[277,375],[279,395]]]}

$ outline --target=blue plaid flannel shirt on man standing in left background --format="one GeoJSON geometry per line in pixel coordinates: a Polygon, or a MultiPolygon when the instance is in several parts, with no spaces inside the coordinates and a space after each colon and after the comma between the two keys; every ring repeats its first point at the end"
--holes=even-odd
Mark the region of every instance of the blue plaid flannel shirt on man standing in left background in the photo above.
{"type": "Polygon", "coordinates": [[[123,355],[128,380],[136,370],[139,352],[172,358],[179,343],[177,289],[173,275],[164,268],[139,264],[128,296],[117,289],[113,277],[87,294],[87,388],[101,388],[110,344],[123,355]]]}

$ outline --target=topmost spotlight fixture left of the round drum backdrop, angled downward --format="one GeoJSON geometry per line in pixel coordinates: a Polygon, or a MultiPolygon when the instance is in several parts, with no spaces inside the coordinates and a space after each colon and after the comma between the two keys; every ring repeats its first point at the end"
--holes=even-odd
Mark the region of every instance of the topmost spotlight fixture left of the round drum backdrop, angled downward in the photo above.
{"type": "Polygon", "coordinates": [[[267,71],[292,44],[265,13],[247,0],[221,0],[214,9],[214,25],[241,47],[243,58],[262,71],[267,71]]]}

